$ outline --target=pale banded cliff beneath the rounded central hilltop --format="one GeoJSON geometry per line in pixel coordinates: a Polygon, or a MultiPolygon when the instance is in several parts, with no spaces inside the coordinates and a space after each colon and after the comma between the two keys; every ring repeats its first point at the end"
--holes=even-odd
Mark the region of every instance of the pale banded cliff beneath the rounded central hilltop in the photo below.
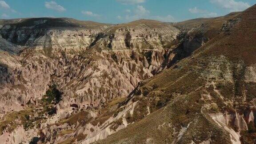
{"type": "Polygon", "coordinates": [[[94,44],[96,47],[112,50],[163,49],[176,39],[179,32],[179,29],[170,24],[138,20],[108,28],[105,36],[94,44]]]}

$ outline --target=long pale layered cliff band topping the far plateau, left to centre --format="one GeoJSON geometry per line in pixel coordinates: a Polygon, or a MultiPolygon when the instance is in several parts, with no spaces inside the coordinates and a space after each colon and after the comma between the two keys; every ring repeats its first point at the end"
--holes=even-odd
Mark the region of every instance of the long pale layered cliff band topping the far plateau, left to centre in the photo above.
{"type": "Polygon", "coordinates": [[[75,22],[47,18],[7,21],[2,23],[0,35],[14,44],[47,53],[78,52],[93,46],[106,50],[162,49],[180,32],[172,25],[154,20],[119,25],[75,22]]]}

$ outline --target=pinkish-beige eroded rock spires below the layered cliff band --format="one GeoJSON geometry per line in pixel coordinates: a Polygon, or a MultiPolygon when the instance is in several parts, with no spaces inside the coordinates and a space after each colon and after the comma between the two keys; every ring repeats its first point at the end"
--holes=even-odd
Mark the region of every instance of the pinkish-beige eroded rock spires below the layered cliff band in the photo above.
{"type": "MultiPolygon", "coordinates": [[[[5,60],[8,58],[18,59],[6,55],[5,60]]],[[[29,100],[41,99],[52,84],[63,92],[60,108],[70,108],[71,104],[83,109],[97,108],[117,97],[128,96],[140,80],[161,71],[162,64],[170,60],[170,51],[158,49],[64,54],[51,59],[32,54],[16,60],[16,65],[3,60],[1,112],[18,110],[29,100]]]]}

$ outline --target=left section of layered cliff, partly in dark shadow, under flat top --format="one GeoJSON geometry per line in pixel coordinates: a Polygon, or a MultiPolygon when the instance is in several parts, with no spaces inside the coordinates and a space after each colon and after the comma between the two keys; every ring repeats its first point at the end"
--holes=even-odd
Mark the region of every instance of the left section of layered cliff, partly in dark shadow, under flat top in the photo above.
{"type": "Polygon", "coordinates": [[[51,54],[84,50],[108,27],[109,24],[64,18],[19,19],[2,22],[0,34],[14,44],[51,54]]]}

